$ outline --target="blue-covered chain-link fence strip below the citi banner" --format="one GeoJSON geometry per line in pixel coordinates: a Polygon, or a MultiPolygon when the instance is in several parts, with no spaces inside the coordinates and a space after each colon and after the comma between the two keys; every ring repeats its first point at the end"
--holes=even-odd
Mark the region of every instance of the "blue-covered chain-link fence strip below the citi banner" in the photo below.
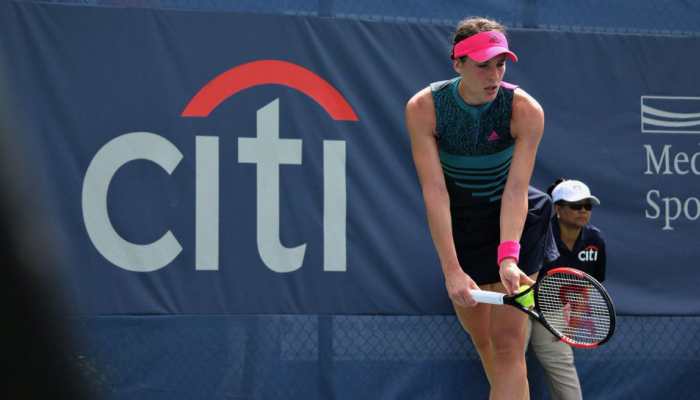
{"type": "MultiPolygon", "coordinates": [[[[114,316],[75,324],[86,335],[76,362],[99,397],[110,400],[488,393],[454,316],[114,316]]],[[[674,384],[700,373],[700,317],[622,316],[609,343],[576,350],[576,364],[587,399],[700,398],[692,385],[674,384]]],[[[532,355],[528,365],[532,398],[548,398],[532,355]]]]}

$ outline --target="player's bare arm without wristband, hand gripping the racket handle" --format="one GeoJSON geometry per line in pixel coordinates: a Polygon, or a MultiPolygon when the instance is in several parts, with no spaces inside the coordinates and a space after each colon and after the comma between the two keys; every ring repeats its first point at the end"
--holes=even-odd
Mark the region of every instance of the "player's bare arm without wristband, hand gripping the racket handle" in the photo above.
{"type": "Polygon", "coordinates": [[[474,305],[468,289],[476,289],[477,286],[460,267],[452,238],[450,199],[438,155],[435,105],[429,88],[418,92],[406,104],[406,127],[411,138],[413,161],[423,192],[430,234],[440,258],[448,294],[458,305],[474,305]]]}

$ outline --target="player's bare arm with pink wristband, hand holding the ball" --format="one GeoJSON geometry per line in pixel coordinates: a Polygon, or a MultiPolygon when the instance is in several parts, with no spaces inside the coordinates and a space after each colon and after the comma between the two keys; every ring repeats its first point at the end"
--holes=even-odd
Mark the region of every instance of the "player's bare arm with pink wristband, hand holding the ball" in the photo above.
{"type": "MultiPolygon", "coordinates": [[[[527,216],[528,186],[543,131],[542,107],[524,91],[516,90],[511,119],[515,150],[501,199],[501,242],[520,241],[527,216]]],[[[516,292],[521,283],[533,283],[520,271],[513,259],[505,259],[500,267],[501,282],[509,293],[516,292]]]]}

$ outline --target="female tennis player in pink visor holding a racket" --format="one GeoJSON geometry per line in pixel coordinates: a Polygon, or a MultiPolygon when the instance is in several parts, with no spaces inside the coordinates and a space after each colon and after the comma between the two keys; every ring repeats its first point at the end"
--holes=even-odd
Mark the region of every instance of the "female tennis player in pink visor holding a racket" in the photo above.
{"type": "Polygon", "coordinates": [[[491,399],[527,399],[527,316],[476,304],[470,289],[515,293],[557,256],[552,203],[529,187],[544,113],[503,82],[504,27],[485,18],[459,23],[452,64],[458,76],[430,84],[406,105],[406,124],[430,232],[447,292],[479,352],[491,399]]]}

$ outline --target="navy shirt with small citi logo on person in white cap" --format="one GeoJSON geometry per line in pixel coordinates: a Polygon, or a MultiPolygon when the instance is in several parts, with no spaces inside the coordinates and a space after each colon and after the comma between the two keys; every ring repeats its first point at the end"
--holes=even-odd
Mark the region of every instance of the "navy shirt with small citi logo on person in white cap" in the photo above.
{"type": "Polygon", "coordinates": [[[552,232],[559,249],[559,258],[546,262],[540,276],[555,267],[570,267],[579,269],[600,282],[605,280],[605,242],[598,228],[590,224],[583,227],[573,250],[569,250],[562,242],[556,218],[552,220],[552,232]]]}

